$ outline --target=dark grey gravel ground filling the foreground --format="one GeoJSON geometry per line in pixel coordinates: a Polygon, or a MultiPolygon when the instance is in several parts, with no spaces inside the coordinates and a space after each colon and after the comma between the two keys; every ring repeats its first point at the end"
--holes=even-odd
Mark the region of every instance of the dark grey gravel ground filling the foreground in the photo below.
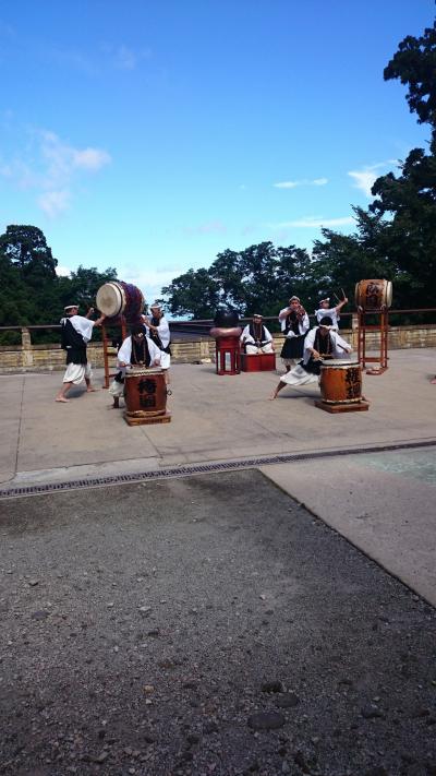
{"type": "Polygon", "coordinates": [[[255,470],[0,503],[0,772],[432,776],[435,610],[255,470]]]}

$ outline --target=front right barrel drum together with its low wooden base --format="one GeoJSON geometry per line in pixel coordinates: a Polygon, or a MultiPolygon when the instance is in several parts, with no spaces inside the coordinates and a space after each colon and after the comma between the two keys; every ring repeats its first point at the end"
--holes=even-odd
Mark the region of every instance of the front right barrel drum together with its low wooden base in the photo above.
{"type": "Polygon", "coordinates": [[[367,409],[362,396],[362,368],[359,361],[342,358],[324,361],[319,379],[322,402],[317,407],[328,413],[349,413],[367,409]]]}

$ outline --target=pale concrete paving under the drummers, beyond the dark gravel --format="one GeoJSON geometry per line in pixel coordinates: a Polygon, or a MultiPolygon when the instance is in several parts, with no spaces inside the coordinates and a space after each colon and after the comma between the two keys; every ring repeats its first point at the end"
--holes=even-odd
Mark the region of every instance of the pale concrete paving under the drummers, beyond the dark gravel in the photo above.
{"type": "Polygon", "coordinates": [[[53,401],[60,373],[1,375],[2,493],[255,465],[435,606],[435,367],[432,349],[393,350],[387,372],[364,375],[370,410],[331,415],[314,406],[316,385],[270,402],[278,373],[175,365],[172,421],[138,427],[110,409],[105,390],[74,389],[63,405],[53,401]]]}

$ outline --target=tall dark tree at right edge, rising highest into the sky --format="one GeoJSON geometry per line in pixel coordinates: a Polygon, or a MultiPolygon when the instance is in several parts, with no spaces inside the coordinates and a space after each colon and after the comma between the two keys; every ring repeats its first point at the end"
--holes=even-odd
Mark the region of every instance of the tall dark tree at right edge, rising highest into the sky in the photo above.
{"type": "Polygon", "coordinates": [[[429,123],[429,154],[413,148],[401,175],[378,178],[370,211],[387,218],[386,252],[409,283],[407,306],[433,306],[436,294],[436,25],[408,36],[384,71],[386,81],[409,86],[407,99],[419,123],[429,123]]]}

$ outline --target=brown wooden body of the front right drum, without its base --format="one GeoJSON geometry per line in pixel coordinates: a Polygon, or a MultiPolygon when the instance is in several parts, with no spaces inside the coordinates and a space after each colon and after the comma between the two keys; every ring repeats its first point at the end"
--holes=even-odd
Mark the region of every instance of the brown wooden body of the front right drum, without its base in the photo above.
{"type": "Polygon", "coordinates": [[[329,360],[320,368],[320,395],[327,404],[362,401],[362,368],[359,361],[329,360]]]}

